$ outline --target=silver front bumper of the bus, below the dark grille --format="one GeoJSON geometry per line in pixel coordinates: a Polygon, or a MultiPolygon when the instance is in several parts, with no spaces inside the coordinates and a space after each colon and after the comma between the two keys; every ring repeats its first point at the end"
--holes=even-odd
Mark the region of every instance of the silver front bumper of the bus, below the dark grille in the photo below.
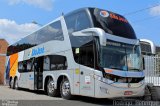
{"type": "MultiPolygon", "coordinates": [[[[96,80],[95,97],[96,98],[121,98],[121,97],[142,97],[145,92],[145,84],[138,87],[123,87],[123,84],[107,84],[96,80]],[[125,91],[131,91],[131,95],[125,95],[125,91]]],[[[125,84],[124,84],[125,86],[125,84]]]]}

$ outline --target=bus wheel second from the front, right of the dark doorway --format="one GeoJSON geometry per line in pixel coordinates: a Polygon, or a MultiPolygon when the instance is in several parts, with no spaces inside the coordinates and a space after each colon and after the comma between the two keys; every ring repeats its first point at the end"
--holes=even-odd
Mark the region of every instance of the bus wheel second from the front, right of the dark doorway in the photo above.
{"type": "Polygon", "coordinates": [[[54,87],[54,81],[52,79],[49,79],[47,82],[47,95],[51,97],[58,96],[59,91],[58,89],[55,89],[54,87]]]}

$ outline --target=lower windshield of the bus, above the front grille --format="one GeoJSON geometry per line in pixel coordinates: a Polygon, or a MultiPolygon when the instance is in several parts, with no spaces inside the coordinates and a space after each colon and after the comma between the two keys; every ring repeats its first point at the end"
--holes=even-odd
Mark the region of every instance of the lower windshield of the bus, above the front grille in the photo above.
{"type": "Polygon", "coordinates": [[[100,66],[121,71],[141,71],[140,46],[107,41],[106,46],[101,46],[100,66]]]}

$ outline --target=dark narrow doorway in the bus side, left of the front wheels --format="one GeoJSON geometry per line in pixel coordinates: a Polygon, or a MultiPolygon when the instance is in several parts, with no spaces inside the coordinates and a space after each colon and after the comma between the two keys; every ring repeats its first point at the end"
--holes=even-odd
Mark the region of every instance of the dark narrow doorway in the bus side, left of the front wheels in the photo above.
{"type": "Polygon", "coordinates": [[[43,59],[38,57],[34,62],[34,90],[43,88],[43,59]]]}

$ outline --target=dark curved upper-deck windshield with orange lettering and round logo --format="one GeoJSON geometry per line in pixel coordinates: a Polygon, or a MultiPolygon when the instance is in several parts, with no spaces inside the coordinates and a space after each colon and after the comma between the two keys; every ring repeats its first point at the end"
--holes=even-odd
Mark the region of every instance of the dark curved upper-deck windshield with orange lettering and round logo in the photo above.
{"type": "Polygon", "coordinates": [[[97,8],[90,8],[89,10],[94,27],[102,28],[106,33],[112,35],[136,39],[133,28],[123,16],[97,8]]]}

